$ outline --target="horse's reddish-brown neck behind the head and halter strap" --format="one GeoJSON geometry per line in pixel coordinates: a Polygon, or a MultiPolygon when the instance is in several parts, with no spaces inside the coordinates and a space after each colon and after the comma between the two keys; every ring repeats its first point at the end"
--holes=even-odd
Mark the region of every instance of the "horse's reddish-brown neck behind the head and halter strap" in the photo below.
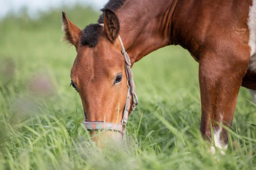
{"type": "Polygon", "coordinates": [[[177,0],[127,0],[116,11],[120,36],[131,63],[171,43],[171,17],[177,0]]]}

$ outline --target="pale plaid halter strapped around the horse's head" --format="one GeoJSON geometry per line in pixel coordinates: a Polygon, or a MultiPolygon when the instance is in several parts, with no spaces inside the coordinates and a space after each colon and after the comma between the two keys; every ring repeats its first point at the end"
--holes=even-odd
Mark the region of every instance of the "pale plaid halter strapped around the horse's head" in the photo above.
{"type": "MultiPolygon", "coordinates": [[[[104,27],[103,24],[100,24],[104,27]]],[[[88,122],[86,116],[84,120],[84,126],[87,130],[95,131],[95,130],[112,130],[122,133],[123,137],[126,133],[126,125],[128,121],[128,115],[135,110],[136,105],[138,104],[138,98],[135,92],[135,85],[133,82],[133,75],[131,72],[131,63],[130,63],[130,57],[128,53],[125,51],[124,44],[121,40],[121,37],[118,35],[118,40],[121,44],[121,52],[125,57],[125,71],[127,76],[127,98],[126,98],[126,104],[125,104],[125,110],[123,113],[123,119],[120,123],[110,123],[110,122],[88,122]],[[131,104],[132,100],[132,104],[131,104]],[[131,109],[130,109],[131,108],[131,109]],[[129,112],[130,110],[130,112],[129,112]]]]}

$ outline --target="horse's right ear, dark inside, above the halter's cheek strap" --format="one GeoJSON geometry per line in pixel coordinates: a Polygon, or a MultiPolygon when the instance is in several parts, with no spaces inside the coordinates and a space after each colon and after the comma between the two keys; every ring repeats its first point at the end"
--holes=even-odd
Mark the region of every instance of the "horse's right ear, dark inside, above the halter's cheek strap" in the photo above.
{"type": "Polygon", "coordinates": [[[117,38],[120,30],[120,25],[116,14],[111,10],[106,8],[104,14],[104,31],[107,38],[114,42],[117,38]]]}

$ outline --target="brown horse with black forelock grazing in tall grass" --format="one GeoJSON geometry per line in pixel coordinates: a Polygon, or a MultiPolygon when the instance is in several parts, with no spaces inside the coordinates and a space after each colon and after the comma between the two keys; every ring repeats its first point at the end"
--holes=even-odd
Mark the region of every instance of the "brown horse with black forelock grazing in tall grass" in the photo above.
{"type": "Polygon", "coordinates": [[[226,148],[220,124],[232,125],[240,86],[256,101],[256,0],[110,0],[102,12],[83,30],[63,13],[65,39],[77,50],[71,84],[86,128],[124,132],[137,104],[129,56],[132,66],[178,44],[199,62],[202,135],[212,139],[211,124],[215,145],[226,148]]]}

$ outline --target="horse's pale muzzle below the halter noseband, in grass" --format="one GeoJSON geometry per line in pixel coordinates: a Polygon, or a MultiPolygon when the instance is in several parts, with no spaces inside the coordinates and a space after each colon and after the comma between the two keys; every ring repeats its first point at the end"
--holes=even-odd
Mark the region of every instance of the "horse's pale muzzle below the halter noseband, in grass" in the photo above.
{"type": "Polygon", "coordinates": [[[117,131],[93,131],[90,134],[92,140],[101,148],[121,145],[123,141],[123,134],[117,131]]]}

